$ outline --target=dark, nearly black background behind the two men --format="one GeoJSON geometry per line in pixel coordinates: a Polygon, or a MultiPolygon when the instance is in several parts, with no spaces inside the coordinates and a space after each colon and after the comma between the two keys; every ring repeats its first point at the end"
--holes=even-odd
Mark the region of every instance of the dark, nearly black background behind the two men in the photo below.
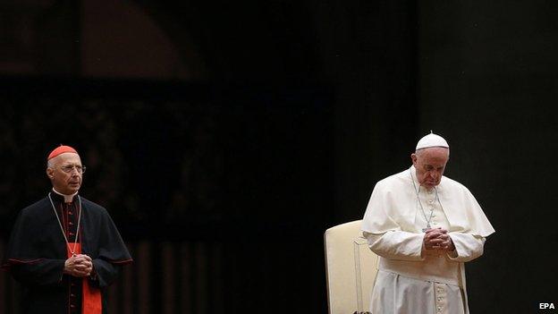
{"type": "MultiPolygon", "coordinates": [[[[430,130],[495,226],[472,313],[558,302],[553,1],[0,4],[0,249],[60,143],[135,259],[117,313],[325,313],[323,233],[430,130]]],[[[0,312],[18,308],[0,273],[0,312]]]]}

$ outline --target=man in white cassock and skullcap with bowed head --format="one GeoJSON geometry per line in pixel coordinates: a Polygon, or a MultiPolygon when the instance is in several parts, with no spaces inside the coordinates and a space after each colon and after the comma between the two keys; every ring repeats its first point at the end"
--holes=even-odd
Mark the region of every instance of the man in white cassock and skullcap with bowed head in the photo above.
{"type": "Polygon", "coordinates": [[[469,313],[463,263],[482,255],[495,230],[470,191],[443,176],[442,137],[418,140],[410,157],[409,169],[376,183],[362,222],[380,257],[370,311],[469,313]]]}

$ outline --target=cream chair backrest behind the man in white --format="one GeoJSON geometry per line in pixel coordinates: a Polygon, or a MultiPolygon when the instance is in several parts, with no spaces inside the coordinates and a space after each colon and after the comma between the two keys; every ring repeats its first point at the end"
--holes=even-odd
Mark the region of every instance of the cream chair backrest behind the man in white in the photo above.
{"type": "Polygon", "coordinates": [[[376,280],[377,255],[362,237],[362,220],[325,230],[325,271],[329,314],[368,311],[376,280]]]}

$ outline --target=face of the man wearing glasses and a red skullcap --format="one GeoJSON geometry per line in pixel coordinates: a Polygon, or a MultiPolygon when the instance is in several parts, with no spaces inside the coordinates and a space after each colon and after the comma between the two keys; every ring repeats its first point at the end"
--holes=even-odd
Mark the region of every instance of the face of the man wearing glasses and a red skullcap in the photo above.
{"type": "Polygon", "coordinates": [[[71,195],[80,190],[83,173],[80,156],[63,153],[50,160],[47,175],[56,191],[71,195]]]}

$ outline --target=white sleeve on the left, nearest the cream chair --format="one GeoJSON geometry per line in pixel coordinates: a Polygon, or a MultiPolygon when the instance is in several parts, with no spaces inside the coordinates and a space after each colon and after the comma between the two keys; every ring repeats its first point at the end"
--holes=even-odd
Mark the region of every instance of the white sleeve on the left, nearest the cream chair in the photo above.
{"type": "Polygon", "coordinates": [[[421,256],[424,235],[405,231],[382,234],[363,232],[370,250],[385,259],[423,260],[421,256]]]}

